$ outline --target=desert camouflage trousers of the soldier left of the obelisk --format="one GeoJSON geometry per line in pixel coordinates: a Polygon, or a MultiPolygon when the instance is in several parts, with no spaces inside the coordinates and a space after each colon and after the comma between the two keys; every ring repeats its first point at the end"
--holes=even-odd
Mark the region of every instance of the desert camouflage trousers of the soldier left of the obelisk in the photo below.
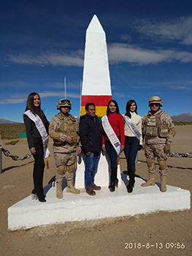
{"type": "Polygon", "coordinates": [[[74,169],[77,163],[77,152],[71,153],[54,153],[55,165],[57,167],[55,181],[71,181],[74,178],[74,169]]]}

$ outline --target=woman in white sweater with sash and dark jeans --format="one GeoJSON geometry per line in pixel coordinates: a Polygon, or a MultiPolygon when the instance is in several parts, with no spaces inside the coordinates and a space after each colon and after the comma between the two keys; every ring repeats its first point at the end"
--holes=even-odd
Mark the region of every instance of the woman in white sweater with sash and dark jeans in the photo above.
{"type": "Polygon", "coordinates": [[[135,159],[137,151],[142,149],[142,117],[137,114],[137,104],[133,99],[126,104],[125,119],[125,148],[129,183],[127,192],[131,193],[134,187],[135,159]]]}

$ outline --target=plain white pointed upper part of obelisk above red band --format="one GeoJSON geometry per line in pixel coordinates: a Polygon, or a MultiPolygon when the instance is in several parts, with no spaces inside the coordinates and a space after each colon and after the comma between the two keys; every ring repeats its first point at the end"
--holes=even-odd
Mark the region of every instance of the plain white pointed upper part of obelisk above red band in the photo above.
{"type": "Polygon", "coordinates": [[[106,37],[96,15],[86,31],[82,95],[112,95],[106,37]]]}

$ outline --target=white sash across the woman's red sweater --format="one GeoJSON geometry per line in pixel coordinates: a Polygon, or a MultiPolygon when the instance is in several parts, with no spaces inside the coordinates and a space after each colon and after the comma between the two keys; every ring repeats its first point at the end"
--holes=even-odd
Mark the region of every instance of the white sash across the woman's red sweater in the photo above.
{"type": "Polygon", "coordinates": [[[107,116],[103,116],[101,118],[102,120],[102,127],[104,128],[104,132],[107,134],[107,137],[110,140],[110,143],[112,143],[112,146],[115,148],[115,151],[117,152],[117,154],[120,154],[120,141],[117,137],[117,135],[115,135],[115,132],[113,131],[110,122],[108,121],[107,116]]]}

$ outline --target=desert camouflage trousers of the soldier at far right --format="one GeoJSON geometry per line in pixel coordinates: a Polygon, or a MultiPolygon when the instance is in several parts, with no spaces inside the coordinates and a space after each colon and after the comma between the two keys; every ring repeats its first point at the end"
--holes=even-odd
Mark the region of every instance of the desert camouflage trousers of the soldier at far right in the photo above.
{"type": "Polygon", "coordinates": [[[159,165],[159,173],[161,176],[167,176],[168,168],[166,165],[167,156],[164,153],[165,144],[146,144],[145,157],[147,161],[147,168],[149,173],[155,173],[155,157],[157,157],[159,165]]]}

